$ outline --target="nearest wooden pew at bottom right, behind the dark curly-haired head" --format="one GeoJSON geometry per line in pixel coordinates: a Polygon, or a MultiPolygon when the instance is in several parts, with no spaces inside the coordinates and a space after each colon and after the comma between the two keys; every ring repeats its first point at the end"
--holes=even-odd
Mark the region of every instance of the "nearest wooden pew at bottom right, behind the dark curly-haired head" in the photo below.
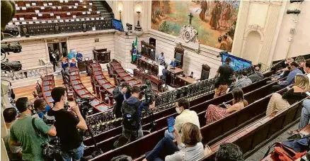
{"type": "MultiPolygon", "coordinates": [[[[304,100],[304,99],[303,99],[304,100]]],[[[203,158],[203,161],[214,160],[215,154],[222,143],[235,143],[243,151],[243,156],[247,158],[257,149],[262,148],[270,140],[286,131],[299,121],[302,110],[302,101],[297,101],[288,109],[277,113],[275,116],[265,116],[250,125],[241,128],[239,131],[227,136],[223,140],[212,145],[212,154],[203,158]]],[[[202,135],[203,137],[204,135],[202,135]]],[[[272,156],[270,156],[272,157],[272,156]]]]}

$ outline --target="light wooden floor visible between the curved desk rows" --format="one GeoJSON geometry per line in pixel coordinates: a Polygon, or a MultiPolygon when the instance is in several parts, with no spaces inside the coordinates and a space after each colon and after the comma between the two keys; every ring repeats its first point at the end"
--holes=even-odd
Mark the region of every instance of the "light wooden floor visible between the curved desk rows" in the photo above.
{"type": "MultiPolygon", "coordinates": [[[[111,84],[114,84],[113,81],[113,77],[109,77],[108,72],[103,72],[103,75],[106,79],[108,79],[109,82],[111,82],[111,84]]],[[[62,75],[59,74],[57,76],[54,76],[55,79],[55,86],[56,87],[63,87],[64,85],[62,84],[62,75]]],[[[88,91],[90,91],[91,93],[93,92],[93,88],[91,87],[91,77],[87,76],[87,74],[81,74],[81,81],[84,84],[84,86],[86,87],[86,89],[88,89],[88,91]]],[[[15,95],[16,95],[16,99],[21,98],[21,97],[28,97],[28,99],[30,99],[30,101],[35,101],[35,98],[33,97],[33,91],[35,91],[35,84],[33,85],[29,85],[29,86],[25,86],[25,87],[18,87],[13,89],[15,95]]]]}

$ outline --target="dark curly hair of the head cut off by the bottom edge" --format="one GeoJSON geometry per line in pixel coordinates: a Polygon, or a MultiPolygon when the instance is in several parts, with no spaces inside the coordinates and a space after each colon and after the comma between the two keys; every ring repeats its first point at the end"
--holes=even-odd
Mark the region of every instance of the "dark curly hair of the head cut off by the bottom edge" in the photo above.
{"type": "Polygon", "coordinates": [[[217,150],[216,161],[243,161],[243,154],[238,145],[223,143],[217,150]]]}

